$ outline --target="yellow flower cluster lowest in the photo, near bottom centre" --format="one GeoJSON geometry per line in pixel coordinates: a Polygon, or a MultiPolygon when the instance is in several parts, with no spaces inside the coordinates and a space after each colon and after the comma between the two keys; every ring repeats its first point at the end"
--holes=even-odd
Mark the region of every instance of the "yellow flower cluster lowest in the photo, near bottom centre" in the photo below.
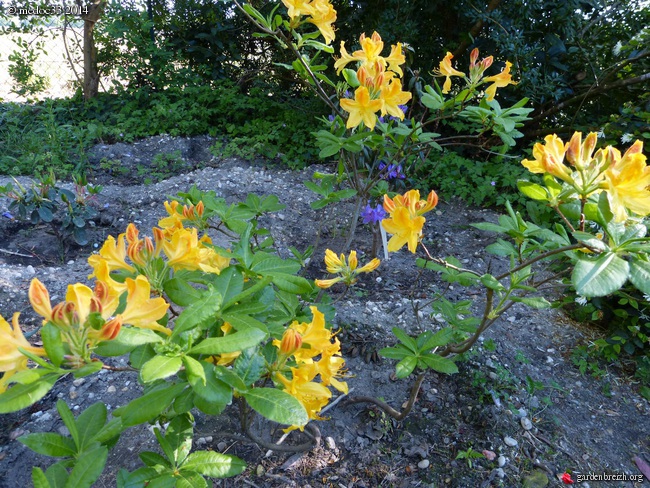
{"type": "MultiPolygon", "coordinates": [[[[305,407],[310,419],[319,420],[319,412],[332,397],[328,387],[347,393],[348,385],[338,379],[343,376],[345,363],[341,357],[341,344],[325,327],[325,316],[318,308],[310,309],[313,315],[310,323],[293,322],[281,341],[273,341],[285,363],[293,359],[296,364],[288,368],[290,377],[278,371],[273,378],[305,407]],[[317,356],[320,359],[315,360],[317,356]],[[320,376],[320,383],[314,381],[317,376],[320,376]]],[[[288,430],[296,428],[302,429],[292,426],[288,430]]]]}

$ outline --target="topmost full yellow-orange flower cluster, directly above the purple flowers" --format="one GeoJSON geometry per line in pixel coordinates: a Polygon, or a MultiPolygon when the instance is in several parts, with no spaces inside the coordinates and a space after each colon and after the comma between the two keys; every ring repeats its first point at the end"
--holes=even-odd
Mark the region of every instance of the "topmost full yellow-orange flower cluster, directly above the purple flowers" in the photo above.
{"type": "Polygon", "coordinates": [[[390,54],[383,57],[384,43],[381,36],[374,32],[371,37],[361,34],[359,38],[361,49],[351,55],[341,41],[341,57],[334,64],[337,74],[349,63],[357,63],[357,79],[360,86],[354,92],[354,100],[341,99],[341,108],[350,116],[347,128],[357,127],[361,122],[370,130],[377,123],[377,112],[381,115],[392,115],[404,119],[404,105],[411,99],[411,93],[402,90],[402,64],[406,62],[402,53],[402,45],[397,43],[391,47],[390,54]]]}

